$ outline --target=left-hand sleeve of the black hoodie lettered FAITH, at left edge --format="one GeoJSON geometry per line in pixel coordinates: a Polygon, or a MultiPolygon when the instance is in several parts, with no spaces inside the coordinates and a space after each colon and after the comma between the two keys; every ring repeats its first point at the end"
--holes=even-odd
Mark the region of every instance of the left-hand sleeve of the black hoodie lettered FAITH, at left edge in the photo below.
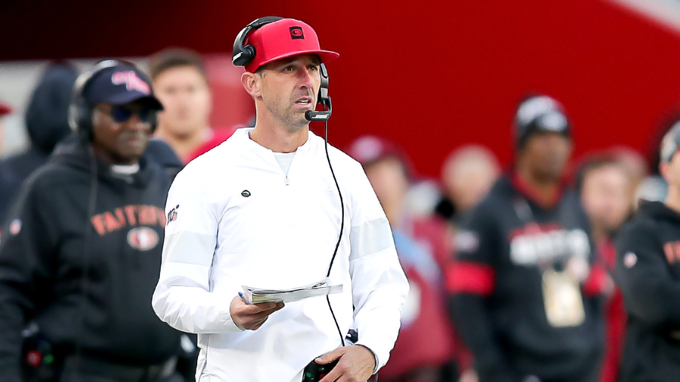
{"type": "Polygon", "coordinates": [[[32,183],[12,205],[0,244],[0,381],[18,382],[21,331],[50,299],[56,232],[50,203],[32,183]]]}

